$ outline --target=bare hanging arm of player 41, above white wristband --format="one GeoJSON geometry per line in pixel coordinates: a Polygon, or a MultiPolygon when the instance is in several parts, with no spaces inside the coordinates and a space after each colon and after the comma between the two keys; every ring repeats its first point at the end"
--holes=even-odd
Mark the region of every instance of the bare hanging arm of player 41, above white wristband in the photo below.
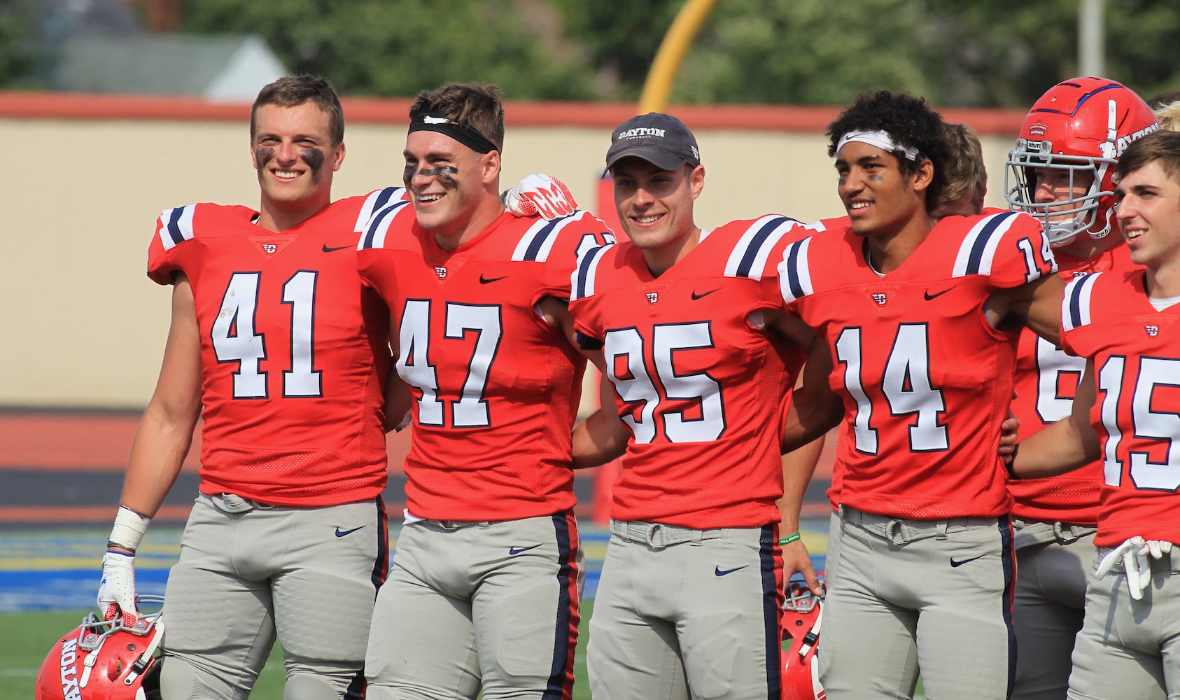
{"type": "Polygon", "coordinates": [[[156,391],[131,444],[120,503],[146,517],[176,482],[201,416],[201,334],[192,286],[177,273],[172,320],[156,391]]]}

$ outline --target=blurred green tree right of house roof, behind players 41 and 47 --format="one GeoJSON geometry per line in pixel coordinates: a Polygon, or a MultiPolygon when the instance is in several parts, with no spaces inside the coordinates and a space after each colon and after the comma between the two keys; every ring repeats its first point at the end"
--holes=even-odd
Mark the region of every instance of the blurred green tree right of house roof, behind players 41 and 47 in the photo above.
{"type": "MultiPolygon", "coordinates": [[[[524,4],[520,4],[524,5],[524,4]]],[[[512,99],[589,99],[594,72],[538,26],[556,15],[483,0],[202,0],[184,31],[258,33],[287,67],[342,92],[411,96],[447,80],[496,83],[512,99]]]]}

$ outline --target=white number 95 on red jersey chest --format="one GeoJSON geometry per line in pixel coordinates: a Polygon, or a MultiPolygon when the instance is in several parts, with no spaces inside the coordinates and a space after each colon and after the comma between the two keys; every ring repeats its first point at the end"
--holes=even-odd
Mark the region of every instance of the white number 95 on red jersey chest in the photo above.
{"type": "Polygon", "coordinates": [[[661,394],[655,379],[647,369],[643,336],[636,328],[608,331],[603,342],[607,377],[624,404],[642,404],[638,418],[631,412],[623,416],[638,444],[656,439],[655,416],[663,417],[664,437],[669,443],[707,443],[716,440],[726,430],[721,385],[706,372],[681,374],[675,367],[677,352],[713,347],[709,323],[673,323],[656,326],[651,334],[651,365],[669,401],[691,401],[700,405],[700,418],[684,418],[684,411],[660,410],[661,394]],[[625,367],[625,373],[620,369],[625,367]]]}

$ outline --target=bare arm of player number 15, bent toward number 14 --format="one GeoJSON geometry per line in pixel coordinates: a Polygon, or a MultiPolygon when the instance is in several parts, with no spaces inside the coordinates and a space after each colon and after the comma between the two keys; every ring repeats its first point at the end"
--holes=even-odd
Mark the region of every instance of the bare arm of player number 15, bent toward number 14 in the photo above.
{"type": "Polygon", "coordinates": [[[1012,473],[1023,479],[1051,477],[1101,457],[1102,446],[1090,425],[1090,408],[1096,394],[1094,361],[1089,360],[1077,384],[1069,416],[1018,443],[1010,465],[1012,473]]]}

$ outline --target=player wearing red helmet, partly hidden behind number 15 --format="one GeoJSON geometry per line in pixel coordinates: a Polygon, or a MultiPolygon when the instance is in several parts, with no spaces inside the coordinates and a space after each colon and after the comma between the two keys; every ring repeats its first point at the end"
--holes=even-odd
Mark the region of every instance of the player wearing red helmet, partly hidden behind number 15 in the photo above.
{"type": "MultiPolygon", "coordinates": [[[[1156,129],[1147,104],[1104,78],[1074,78],[1029,110],[1008,156],[1009,205],[1041,220],[1073,280],[1134,269],[1114,216],[1120,152],[1156,129]]],[[[1020,437],[1069,414],[1086,361],[1031,332],[1021,333],[1012,412],[1020,437]]],[[[1102,464],[1045,479],[1014,480],[1017,700],[1066,696],[1074,637],[1082,627],[1086,573],[1094,557],[1102,464]]]]}

